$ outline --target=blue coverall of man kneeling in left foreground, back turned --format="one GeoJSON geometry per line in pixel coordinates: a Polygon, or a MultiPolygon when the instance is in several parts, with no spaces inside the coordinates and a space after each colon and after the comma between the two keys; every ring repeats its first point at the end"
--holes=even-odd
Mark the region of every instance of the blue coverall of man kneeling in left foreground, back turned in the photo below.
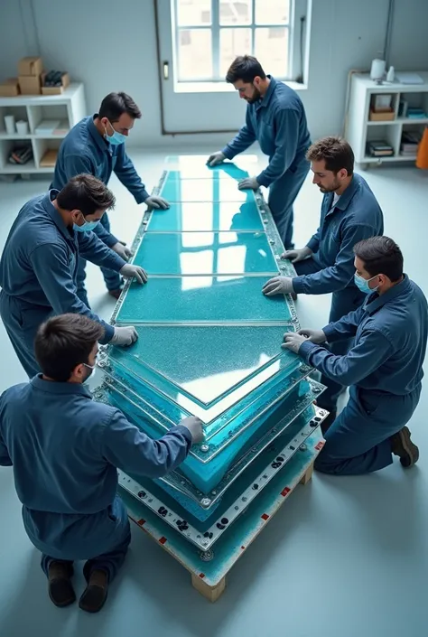
{"type": "Polygon", "coordinates": [[[14,467],[23,524],[46,574],[52,559],[86,559],[87,578],[103,568],[111,581],[131,539],[116,469],[157,478],[190,448],[186,427],[154,441],[79,383],[39,375],[0,398],[0,464],[14,467]]]}

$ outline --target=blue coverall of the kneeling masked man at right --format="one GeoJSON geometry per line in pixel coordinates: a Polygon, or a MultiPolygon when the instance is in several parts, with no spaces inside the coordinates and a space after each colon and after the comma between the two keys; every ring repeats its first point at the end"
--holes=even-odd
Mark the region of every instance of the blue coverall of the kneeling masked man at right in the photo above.
{"type": "Polygon", "coordinates": [[[323,328],[328,342],[355,336],[345,356],[303,342],[299,354],[349,385],[349,402],[325,434],[315,461],[323,473],[358,474],[392,463],[390,436],[410,420],[421,395],[428,304],[407,276],[354,312],[323,328]]]}

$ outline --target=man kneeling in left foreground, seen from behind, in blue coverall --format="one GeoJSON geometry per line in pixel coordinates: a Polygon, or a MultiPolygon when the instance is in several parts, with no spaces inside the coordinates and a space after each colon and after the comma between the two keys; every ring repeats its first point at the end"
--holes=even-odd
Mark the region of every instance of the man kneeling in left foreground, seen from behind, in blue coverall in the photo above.
{"type": "Polygon", "coordinates": [[[73,561],[85,559],[88,585],[79,606],[89,613],[106,601],[131,540],[117,468],[159,478],[203,438],[200,419],[188,417],[152,440],[118,409],[91,398],[83,384],[103,336],[104,328],[82,314],[51,318],[34,344],[42,373],[0,398],[0,464],[14,467],[23,524],[42,551],[51,601],[74,602],[73,561]]]}

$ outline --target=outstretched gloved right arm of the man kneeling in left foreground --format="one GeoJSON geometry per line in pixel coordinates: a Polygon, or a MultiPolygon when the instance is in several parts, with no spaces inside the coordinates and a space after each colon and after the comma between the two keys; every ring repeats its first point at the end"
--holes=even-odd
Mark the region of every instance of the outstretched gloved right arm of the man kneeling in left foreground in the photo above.
{"type": "Polygon", "coordinates": [[[185,460],[192,443],[202,439],[202,423],[197,417],[185,418],[165,436],[153,440],[115,409],[104,427],[103,455],[126,473],[161,478],[185,460]]]}

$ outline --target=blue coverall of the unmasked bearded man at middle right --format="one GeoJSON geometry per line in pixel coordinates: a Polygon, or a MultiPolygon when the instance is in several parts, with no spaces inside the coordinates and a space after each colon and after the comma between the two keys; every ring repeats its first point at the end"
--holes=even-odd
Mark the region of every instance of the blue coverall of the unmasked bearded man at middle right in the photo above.
{"type": "MultiPolygon", "coordinates": [[[[334,323],[356,310],[366,298],[354,284],[353,248],[362,239],[384,233],[384,217],[368,183],[355,174],[348,188],[331,208],[333,192],[324,195],[321,204],[320,228],[307,244],[313,256],[294,264],[299,276],[293,277],[296,294],[325,295],[332,292],[330,318],[334,323]]],[[[330,351],[337,356],[345,354],[352,344],[333,342],[330,351]]],[[[335,411],[343,385],[327,377],[321,382],[327,389],[319,399],[320,407],[335,411]]]]}

